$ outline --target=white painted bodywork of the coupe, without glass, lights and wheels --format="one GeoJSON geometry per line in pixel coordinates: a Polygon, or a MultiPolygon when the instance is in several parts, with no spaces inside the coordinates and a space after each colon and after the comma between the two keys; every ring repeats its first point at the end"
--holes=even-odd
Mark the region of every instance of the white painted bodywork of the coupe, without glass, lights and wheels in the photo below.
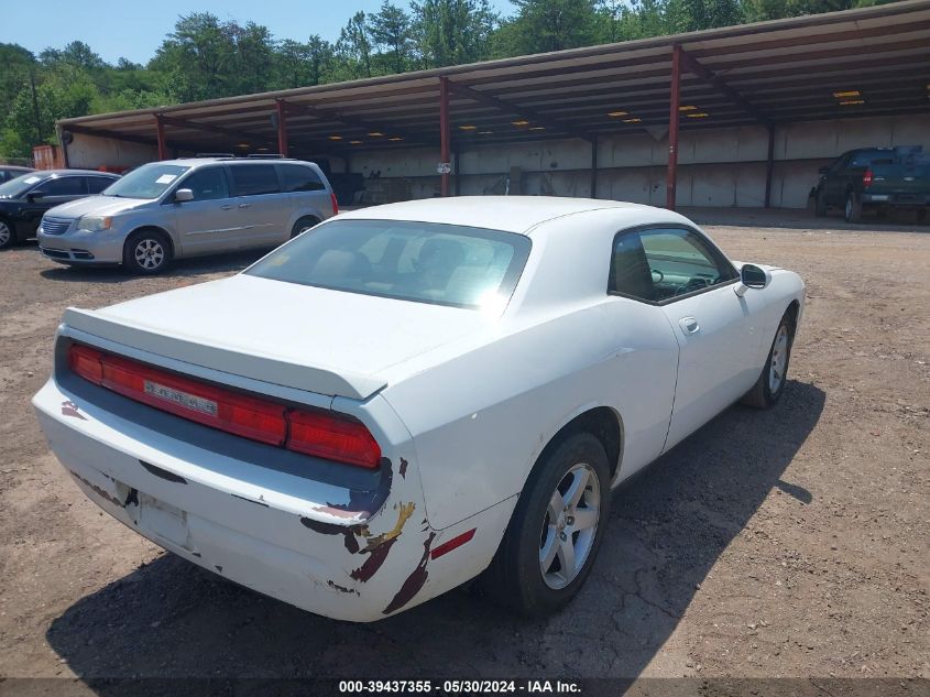
{"type": "Polygon", "coordinates": [[[742,296],[736,282],[667,304],[609,294],[616,232],[697,229],[646,206],[482,197],[337,219],[460,222],[533,247],[510,301],[486,311],[242,274],[69,309],[55,372],[33,400],[53,450],[107,512],[195,564],[337,619],[375,620],[482,571],[540,453],[578,415],[616,418],[614,484],[642,469],[752,386],[780,317],[794,303],[800,318],[803,303],[801,280],[775,268],[742,296]],[[699,329],[686,333],[683,317],[699,329]],[[353,416],[381,446],[382,469],[244,442],[107,392],[69,373],[75,340],[353,416]]]}

